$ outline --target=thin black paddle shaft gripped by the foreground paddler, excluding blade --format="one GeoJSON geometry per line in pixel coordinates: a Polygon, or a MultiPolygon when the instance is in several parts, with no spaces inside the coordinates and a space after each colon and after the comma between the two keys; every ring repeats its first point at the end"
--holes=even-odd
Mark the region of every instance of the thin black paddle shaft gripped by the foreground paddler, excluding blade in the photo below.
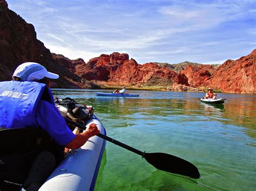
{"type": "MultiPolygon", "coordinates": [[[[76,122],[74,122],[74,121],[72,121],[71,119],[68,119],[68,118],[64,118],[64,119],[65,119],[66,122],[68,122],[68,123],[70,123],[72,125],[76,125],[80,129],[83,129],[83,130],[86,129],[86,126],[84,126],[82,124],[76,123],[76,122]]],[[[109,142],[111,142],[111,143],[113,143],[115,145],[118,145],[120,147],[126,148],[127,150],[129,150],[131,152],[134,152],[136,154],[139,154],[142,157],[144,157],[144,154],[145,154],[144,152],[139,151],[136,148],[133,148],[133,147],[131,147],[129,145],[125,145],[125,144],[119,142],[118,140],[112,139],[111,137],[107,137],[107,136],[103,135],[102,133],[98,133],[96,136],[98,136],[100,138],[103,138],[103,139],[105,139],[105,140],[107,140],[107,141],[109,141],[109,142]]]]}

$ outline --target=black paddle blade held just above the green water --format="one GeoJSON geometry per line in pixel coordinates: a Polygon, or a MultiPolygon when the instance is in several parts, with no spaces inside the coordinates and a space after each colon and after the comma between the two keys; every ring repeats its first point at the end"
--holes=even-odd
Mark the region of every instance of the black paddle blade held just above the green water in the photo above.
{"type": "Polygon", "coordinates": [[[151,165],[161,171],[190,176],[191,178],[200,178],[196,166],[190,162],[166,153],[145,153],[144,158],[151,165]]]}

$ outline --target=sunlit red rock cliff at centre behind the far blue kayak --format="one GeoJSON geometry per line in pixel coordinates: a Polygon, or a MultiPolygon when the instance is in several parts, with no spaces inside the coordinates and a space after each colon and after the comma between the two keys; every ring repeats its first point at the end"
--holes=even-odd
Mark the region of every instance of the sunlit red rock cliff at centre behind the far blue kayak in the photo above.
{"type": "Polygon", "coordinates": [[[77,65],[75,73],[86,80],[139,83],[148,86],[172,86],[173,83],[188,85],[183,74],[177,74],[154,63],[139,65],[136,60],[129,60],[128,54],[118,52],[102,54],[87,63],[77,65]]]}

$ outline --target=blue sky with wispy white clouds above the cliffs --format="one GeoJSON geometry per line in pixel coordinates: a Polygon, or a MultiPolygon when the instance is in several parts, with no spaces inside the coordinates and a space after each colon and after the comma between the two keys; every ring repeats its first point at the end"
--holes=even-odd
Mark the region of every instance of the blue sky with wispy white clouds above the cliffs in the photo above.
{"type": "Polygon", "coordinates": [[[7,0],[51,52],[221,64],[256,48],[256,0],[7,0]]]}

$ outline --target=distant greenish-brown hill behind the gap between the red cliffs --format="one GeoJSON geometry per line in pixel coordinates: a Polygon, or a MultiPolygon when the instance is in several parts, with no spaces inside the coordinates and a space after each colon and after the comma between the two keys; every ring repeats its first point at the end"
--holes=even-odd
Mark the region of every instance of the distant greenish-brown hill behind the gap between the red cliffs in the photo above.
{"type": "MultiPolygon", "coordinates": [[[[196,63],[196,62],[181,62],[181,63],[166,63],[166,62],[153,62],[156,63],[156,65],[168,68],[170,70],[174,70],[175,72],[179,73],[180,71],[184,70],[188,65],[192,66],[198,66],[202,65],[201,63],[196,63]]],[[[218,68],[220,65],[212,65],[213,68],[218,68]]]]}

